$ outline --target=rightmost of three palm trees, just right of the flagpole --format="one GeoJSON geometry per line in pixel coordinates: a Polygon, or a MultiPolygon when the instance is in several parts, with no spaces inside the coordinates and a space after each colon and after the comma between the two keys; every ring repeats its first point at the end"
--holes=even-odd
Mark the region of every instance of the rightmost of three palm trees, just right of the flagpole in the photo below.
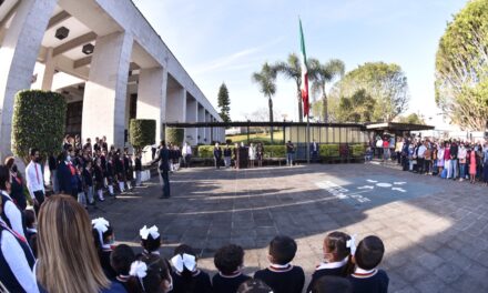
{"type": "Polygon", "coordinates": [[[313,80],[312,90],[314,92],[322,91],[324,122],[328,122],[328,103],[325,85],[336,78],[344,77],[345,64],[339,59],[331,59],[326,63],[321,64],[317,59],[308,60],[308,75],[313,80]]]}

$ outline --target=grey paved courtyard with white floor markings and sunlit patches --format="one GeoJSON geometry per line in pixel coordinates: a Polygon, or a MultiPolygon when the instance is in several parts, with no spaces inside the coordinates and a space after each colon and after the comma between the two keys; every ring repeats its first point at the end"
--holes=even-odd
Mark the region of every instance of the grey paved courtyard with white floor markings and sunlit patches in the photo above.
{"type": "Polygon", "coordinates": [[[180,243],[195,247],[212,273],[213,253],[236,243],[245,272],[267,263],[276,234],[298,243],[294,264],[307,282],[322,260],[324,236],[335,230],[386,245],[382,267],[389,292],[488,292],[488,189],[373,164],[253,170],[199,168],[171,175],[172,199],[157,179],[91,210],[105,216],[118,242],[139,246],[139,229],[155,224],[163,255],[180,243]]]}

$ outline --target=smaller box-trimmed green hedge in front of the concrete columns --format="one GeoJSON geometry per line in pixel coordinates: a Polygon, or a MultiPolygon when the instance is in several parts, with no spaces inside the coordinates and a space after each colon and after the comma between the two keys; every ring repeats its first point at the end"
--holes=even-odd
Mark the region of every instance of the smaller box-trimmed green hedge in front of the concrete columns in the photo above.
{"type": "Polygon", "coordinates": [[[129,135],[132,146],[141,150],[155,143],[156,121],[153,119],[131,119],[129,135]]]}

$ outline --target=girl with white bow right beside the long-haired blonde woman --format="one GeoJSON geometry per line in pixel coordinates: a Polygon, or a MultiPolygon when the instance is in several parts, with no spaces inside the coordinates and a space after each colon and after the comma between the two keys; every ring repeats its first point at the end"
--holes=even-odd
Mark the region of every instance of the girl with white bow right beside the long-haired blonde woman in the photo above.
{"type": "Polygon", "coordinates": [[[109,221],[103,218],[92,220],[93,238],[96,251],[99,253],[100,264],[106,277],[114,279],[115,271],[110,265],[110,254],[112,253],[112,244],[114,242],[113,229],[109,221]]]}

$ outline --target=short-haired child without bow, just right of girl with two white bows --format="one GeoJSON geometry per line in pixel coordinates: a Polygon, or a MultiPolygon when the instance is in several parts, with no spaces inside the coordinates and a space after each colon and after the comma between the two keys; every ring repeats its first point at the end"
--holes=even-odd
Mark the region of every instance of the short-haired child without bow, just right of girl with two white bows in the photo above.
{"type": "Polygon", "coordinates": [[[244,263],[244,250],[234,244],[223,246],[214,255],[218,273],[212,277],[214,293],[235,293],[237,287],[251,276],[241,272],[244,263]]]}

